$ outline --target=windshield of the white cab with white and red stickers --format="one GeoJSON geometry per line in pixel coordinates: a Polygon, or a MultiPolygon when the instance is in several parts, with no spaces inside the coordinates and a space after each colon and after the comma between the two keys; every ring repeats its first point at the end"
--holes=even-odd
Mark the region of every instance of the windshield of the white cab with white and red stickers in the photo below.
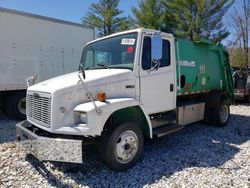
{"type": "Polygon", "coordinates": [[[137,33],[103,39],[87,45],[81,63],[85,70],[125,68],[133,70],[137,33]]]}

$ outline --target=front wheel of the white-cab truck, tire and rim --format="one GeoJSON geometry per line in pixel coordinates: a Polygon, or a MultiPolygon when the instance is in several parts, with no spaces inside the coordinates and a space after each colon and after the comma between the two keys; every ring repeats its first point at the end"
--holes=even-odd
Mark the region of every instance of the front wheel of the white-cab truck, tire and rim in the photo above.
{"type": "Polygon", "coordinates": [[[102,135],[99,152],[113,170],[125,171],[133,167],[143,151],[143,133],[134,123],[123,123],[102,135]]]}

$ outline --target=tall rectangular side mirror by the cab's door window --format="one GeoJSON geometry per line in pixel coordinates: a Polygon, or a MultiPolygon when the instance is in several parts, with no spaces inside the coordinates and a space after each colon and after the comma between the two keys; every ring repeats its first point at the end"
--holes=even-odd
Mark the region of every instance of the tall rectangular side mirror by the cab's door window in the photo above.
{"type": "Polygon", "coordinates": [[[151,62],[157,63],[162,58],[162,38],[160,35],[153,35],[151,38],[151,62]]]}

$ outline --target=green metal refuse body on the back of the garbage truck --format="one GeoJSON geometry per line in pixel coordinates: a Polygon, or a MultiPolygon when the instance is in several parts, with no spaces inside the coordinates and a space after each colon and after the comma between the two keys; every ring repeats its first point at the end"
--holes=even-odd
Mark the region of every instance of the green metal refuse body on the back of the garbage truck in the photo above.
{"type": "Polygon", "coordinates": [[[223,90],[233,98],[229,55],[222,45],[177,39],[176,59],[178,96],[223,90]]]}

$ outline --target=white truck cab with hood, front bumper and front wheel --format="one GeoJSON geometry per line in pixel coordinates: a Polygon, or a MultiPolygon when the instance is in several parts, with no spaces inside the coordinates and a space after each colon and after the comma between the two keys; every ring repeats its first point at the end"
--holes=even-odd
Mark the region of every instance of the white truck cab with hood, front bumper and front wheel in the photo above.
{"type": "Polygon", "coordinates": [[[126,170],[138,161],[144,138],[204,118],[204,102],[192,104],[184,120],[188,108],[177,109],[176,63],[175,38],[155,30],[89,42],[78,72],[28,88],[17,139],[41,160],[78,163],[82,146],[95,142],[110,168],[126,170]]]}

